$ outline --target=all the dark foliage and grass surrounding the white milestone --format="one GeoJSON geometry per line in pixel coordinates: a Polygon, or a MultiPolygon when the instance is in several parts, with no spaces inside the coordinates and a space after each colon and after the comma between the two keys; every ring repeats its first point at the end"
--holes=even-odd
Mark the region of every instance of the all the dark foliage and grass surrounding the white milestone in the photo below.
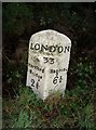
{"type": "Polygon", "coordinates": [[[93,3],[3,3],[3,128],[96,129],[95,10],[93,3]],[[47,28],[69,36],[72,49],[65,96],[43,102],[25,87],[27,43],[47,28]]]}

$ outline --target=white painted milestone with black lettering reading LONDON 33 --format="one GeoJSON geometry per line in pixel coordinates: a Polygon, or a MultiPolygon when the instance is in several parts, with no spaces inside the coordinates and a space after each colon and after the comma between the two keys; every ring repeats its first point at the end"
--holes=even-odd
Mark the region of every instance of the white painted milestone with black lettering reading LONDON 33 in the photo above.
{"type": "Polygon", "coordinates": [[[42,30],[31,36],[26,86],[40,99],[65,91],[70,49],[71,40],[56,30],[42,30]]]}

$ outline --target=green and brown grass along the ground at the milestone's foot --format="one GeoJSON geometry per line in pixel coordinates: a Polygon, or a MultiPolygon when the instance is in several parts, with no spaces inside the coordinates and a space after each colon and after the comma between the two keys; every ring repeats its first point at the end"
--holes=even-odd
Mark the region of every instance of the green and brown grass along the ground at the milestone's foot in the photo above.
{"type": "Polygon", "coordinates": [[[83,94],[77,94],[77,89],[66,91],[64,99],[51,104],[51,100],[50,103],[42,102],[29,88],[24,87],[17,99],[3,100],[3,128],[68,126],[95,130],[93,94],[90,92],[88,98],[83,99],[83,94]]]}

